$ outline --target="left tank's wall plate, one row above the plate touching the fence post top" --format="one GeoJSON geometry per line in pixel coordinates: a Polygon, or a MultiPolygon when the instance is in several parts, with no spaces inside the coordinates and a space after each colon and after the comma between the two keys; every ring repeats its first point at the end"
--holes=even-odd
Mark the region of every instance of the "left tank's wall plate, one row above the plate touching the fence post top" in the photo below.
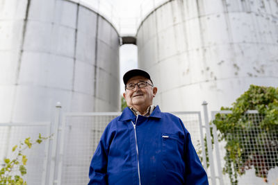
{"type": "Polygon", "coordinates": [[[72,89],[74,60],[47,53],[25,52],[22,55],[19,84],[72,89]]]}

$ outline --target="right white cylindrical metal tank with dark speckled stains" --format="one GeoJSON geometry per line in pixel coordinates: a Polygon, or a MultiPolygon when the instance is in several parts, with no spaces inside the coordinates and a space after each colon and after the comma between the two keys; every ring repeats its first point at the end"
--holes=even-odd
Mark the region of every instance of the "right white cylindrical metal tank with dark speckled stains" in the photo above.
{"type": "Polygon", "coordinates": [[[275,0],[173,0],[137,32],[138,67],[158,87],[165,111],[231,106],[251,84],[278,86],[275,0]]]}

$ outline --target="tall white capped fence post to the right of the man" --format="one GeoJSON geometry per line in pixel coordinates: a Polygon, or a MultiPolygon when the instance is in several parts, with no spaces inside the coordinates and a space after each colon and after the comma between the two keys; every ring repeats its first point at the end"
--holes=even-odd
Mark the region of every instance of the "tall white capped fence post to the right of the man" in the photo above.
{"type": "Polygon", "coordinates": [[[208,121],[208,107],[207,107],[208,103],[206,103],[206,101],[204,101],[202,103],[202,105],[204,107],[204,123],[205,123],[205,127],[206,127],[206,144],[208,146],[208,161],[209,161],[209,165],[211,167],[211,183],[216,184],[214,161],[213,161],[213,149],[212,149],[212,144],[211,144],[211,130],[210,130],[209,121],[208,121]]]}

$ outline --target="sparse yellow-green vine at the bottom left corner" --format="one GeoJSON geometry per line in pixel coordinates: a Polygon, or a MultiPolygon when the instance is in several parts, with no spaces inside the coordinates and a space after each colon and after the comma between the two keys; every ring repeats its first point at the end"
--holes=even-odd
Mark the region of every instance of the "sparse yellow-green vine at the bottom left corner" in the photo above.
{"type": "Polygon", "coordinates": [[[3,159],[3,168],[0,170],[0,184],[1,185],[27,185],[23,177],[26,175],[27,157],[24,155],[24,150],[31,148],[35,144],[40,144],[42,141],[49,139],[39,134],[38,139],[31,141],[30,137],[26,138],[24,142],[20,142],[12,149],[12,157],[3,159]]]}

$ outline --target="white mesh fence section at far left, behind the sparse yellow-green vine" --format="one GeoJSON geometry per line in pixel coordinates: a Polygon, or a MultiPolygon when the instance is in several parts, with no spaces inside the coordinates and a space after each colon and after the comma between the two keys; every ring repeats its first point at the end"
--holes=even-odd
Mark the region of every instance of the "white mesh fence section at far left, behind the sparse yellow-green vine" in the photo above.
{"type": "MultiPolygon", "coordinates": [[[[50,123],[1,123],[0,124],[0,161],[4,158],[10,158],[12,148],[19,144],[19,141],[31,137],[37,139],[39,134],[49,136],[50,123]]],[[[28,185],[44,185],[47,176],[47,160],[49,154],[49,140],[40,145],[32,146],[30,150],[24,150],[27,156],[27,174],[28,185]]],[[[3,164],[2,164],[3,165],[3,164]]],[[[2,167],[2,166],[1,166],[2,167]]]]}

